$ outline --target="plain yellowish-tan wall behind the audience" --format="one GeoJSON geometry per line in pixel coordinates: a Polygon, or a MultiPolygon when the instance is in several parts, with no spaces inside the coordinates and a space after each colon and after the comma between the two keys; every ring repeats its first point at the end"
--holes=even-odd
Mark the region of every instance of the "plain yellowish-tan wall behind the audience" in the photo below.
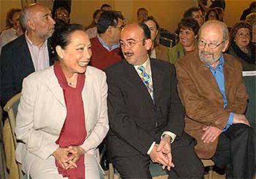
{"type": "MultiPolygon", "coordinates": [[[[39,0],[51,6],[52,0],[39,0]]],[[[239,20],[242,10],[249,7],[248,0],[226,0],[226,12],[224,21],[231,27],[239,20]]],[[[100,8],[101,4],[110,4],[116,10],[121,10],[128,22],[136,19],[136,11],[140,7],[148,9],[160,26],[168,30],[176,30],[177,23],[182,18],[184,10],[191,6],[197,6],[197,0],[72,0],[72,23],[88,25],[92,21],[93,12],[100,8]]],[[[6,12],[14,7],[21,7],[20,0],[0,0],[1,30],[5,27],[6,12]]]]}

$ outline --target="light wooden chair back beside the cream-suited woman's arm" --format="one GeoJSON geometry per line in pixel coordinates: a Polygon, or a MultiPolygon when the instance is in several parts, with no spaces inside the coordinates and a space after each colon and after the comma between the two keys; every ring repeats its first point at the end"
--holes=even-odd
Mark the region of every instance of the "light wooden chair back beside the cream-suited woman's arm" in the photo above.
{"type": "Polygon", "coordinates": [[[15,136],[15,126],[16,126],[16,115],[18,112],[18,106],[20,102],[20,96],[21,93],[16,94],[14,97],[12,97],[7,103],[6,106],[4,106],[4,110],[8,114],[8,120],[11,125],[11,130],[12,130],[12,137],[14,139],[14,147],[16,148],[17,146],[17,141],[16,141],[16,136],[15,136]]]}

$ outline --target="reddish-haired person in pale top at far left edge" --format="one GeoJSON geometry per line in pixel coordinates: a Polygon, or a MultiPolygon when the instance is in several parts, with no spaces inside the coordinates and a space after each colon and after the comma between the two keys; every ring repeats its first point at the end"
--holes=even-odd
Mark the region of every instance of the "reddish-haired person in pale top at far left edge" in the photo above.
{"type": "Polygon", "coordinates": [[[19,19],[20,11],[20,9],[11,9],[7,12],[6,30],[2,31],[0,35],[0,52],[4,45],[18,37],[14,23],[19,19]]]}

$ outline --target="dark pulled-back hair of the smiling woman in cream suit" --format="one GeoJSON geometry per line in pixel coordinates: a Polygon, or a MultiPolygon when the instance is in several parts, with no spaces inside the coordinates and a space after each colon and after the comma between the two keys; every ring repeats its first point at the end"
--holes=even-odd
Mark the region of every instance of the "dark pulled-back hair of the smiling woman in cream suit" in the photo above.
{"type": "Polygon", "coordinates": [[[84,27],[80,24],[69,24],[64,25],[58,29],[56,29],[51,36],[51,47],[53,48],[52,51],[52,59],[54,61],[58,61],[59,57],[56,52],[56,46],[61,46],[62,49],[66,49],[67,45],[70,43],[70,35],[77,30],[84,31],[84,27]]]}

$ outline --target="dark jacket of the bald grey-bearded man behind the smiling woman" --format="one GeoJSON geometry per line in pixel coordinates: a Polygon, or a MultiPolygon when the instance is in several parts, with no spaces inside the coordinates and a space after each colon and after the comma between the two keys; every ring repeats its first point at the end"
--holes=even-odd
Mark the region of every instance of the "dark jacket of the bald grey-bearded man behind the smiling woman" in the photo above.
{"type": "MultiPolygon", "coordinates": [[[[48,40],[49,64],[51,61],[50,40],[48,40]]],[[[1,104],[6,102],[22,89],[23,78],[35,72],[32,57],[28,49],[25,35],[11,41],[2,48],[1,57],[1,104]]]]}

